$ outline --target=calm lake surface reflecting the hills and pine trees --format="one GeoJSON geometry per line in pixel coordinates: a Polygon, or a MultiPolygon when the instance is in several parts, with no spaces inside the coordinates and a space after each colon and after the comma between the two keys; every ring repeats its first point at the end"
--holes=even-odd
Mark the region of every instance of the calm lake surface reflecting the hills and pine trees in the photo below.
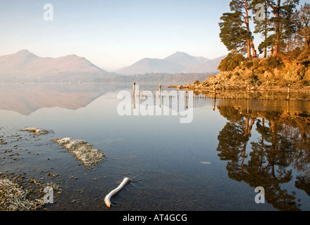
{"type": "MultiPolygon", "coordinates": [[[[171,84],[161,85],[171,93],[171,84]]],[[[158,89],[139,84],[140,92],[158,89]]],[[[61,186],[51,211],[310,210],[310,103],[193,96],[192,121],[182,123],[173,96],[168,105],[164,96],[151,99],[154,112],[169,113],[134,115],[130,102],[123,106],[131,115],[120,115],[120,91],[132,94],[132,84],[1,84],[1,172],[61,186]],[[106,159],[85,167],[51,141],[65,137],[91,143],[106,159]],[[132,182],[106,207],[125,176],[132,182]]]]}

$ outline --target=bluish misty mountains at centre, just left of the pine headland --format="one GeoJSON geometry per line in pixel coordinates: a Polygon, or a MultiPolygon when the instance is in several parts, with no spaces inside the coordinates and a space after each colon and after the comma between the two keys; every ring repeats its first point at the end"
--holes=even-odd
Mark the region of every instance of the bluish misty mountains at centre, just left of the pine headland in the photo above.
{"type": "Polygon", "coordinates": [[[115,72],[122,75],[137,75],[145,73],[204,73],[219,72],[218,65],[226,56],[212,60],[204,57],[190,56],[184,52],[176,52],[163,59],[143,58],[133,65],[130,65],[115,72]]]}

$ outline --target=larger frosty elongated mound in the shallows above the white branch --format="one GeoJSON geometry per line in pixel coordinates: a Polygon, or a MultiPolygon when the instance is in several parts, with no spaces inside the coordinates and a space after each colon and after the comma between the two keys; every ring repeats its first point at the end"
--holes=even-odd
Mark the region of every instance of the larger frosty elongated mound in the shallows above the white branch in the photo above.
{"type": "Polygon", "coordinates": [[[52,141],[69,150],[70,153],[75,155],[75,157],[87,168],[92,168],[98,165],[99,162],[106,158],[104,153],[101,153],[101,151],[97,150],[91,144],[83,140],[64,138],[53,139],[52,141]]]}

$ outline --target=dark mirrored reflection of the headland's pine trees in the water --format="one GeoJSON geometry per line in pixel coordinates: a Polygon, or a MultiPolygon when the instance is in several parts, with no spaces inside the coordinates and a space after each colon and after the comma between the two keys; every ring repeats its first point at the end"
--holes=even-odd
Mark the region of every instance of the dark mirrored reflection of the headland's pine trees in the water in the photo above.
{"type": "Polygon", "coordinates": [[[282,184],[292,180],[292,168],[301,172],[295,186],[310,195],[309,124],[307,113],[244,110],[218,106],[229,122],[218,134],[218,156],[226,160],[228,176],[263,186],[266,201],[278,210],[299,210],[294,191],[282,184]],[[256,121],[258,141],[247,144],[256,121]]]}

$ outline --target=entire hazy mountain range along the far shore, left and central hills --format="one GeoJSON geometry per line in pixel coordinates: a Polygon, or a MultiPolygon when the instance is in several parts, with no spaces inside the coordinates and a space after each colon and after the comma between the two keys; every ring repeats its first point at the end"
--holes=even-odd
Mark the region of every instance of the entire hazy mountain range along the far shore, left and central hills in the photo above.
{"type": "Polygon", "coordinates": [[[164,59],[144,58],[128,67],[107,72],[80,56],[42,58],[30,51],[22,50],[11,55],[0,56],[0,82],[128,82],[127,75],[140,75],[135,79],[142,80],[164,79],[167,82],[170,80],[186,82],[197,78],[202,79],[201,76],[218,72],[217,68],[222,58],[225,56],[209,60],[176,52],[164,59]],[[150,73],[153,74],[152,77],[150,73]],[[165,75],[162,75],[163,73],[165,75]],[[156,76],[156,74],[159,75],[156,76]]]}

